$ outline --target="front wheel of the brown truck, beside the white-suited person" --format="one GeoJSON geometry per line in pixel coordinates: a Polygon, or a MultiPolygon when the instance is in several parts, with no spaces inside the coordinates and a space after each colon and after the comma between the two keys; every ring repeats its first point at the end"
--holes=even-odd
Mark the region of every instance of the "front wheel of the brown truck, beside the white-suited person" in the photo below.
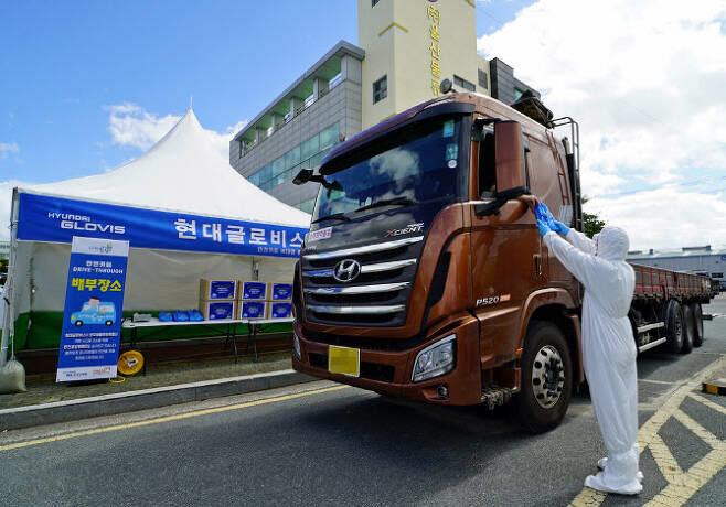
{"type": "Polygon", "coordinates": [[[529,433],[556,428],[565,417],[573,392],[573,363],[562,330],[534,322],[522,354],[522,388],[512,399],[512,416],[529,433]]]}

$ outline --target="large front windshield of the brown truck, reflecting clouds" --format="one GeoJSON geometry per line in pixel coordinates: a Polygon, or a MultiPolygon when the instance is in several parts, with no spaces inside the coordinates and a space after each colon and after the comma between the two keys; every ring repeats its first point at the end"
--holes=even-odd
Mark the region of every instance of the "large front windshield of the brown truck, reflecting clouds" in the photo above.
{"type": "Polygon", "coordinates": [[[460,117],[438,117],[356,150],[340,170],[323,176],[313,223],[455,197],[460,128],[460,117]]]}

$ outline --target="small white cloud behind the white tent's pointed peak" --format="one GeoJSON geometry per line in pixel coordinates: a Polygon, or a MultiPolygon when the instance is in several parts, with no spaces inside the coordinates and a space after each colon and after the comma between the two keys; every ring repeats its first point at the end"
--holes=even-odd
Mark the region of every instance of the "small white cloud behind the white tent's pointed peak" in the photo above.
{"type": "MultiPolygon", "coordinates": [[[[124,103],[107,106],[108,131],[114,144],[148,150],[159,141],[181,119],[181,115],[159,116],[148,112],[142,107],[124,103]]],[[[225,159],[229,158],[229,140],[247,121],[239,121],[227,127],[224,132],[205,129],[210,138],[225,159]]]]}

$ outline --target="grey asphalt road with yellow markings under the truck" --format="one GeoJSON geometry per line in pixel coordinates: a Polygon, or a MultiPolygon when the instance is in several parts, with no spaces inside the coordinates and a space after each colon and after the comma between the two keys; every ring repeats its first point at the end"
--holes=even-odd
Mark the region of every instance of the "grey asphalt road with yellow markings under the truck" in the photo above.
{"type": "MultiPolygon", "coordinates": [[[[726,299],[704,311],[726,315],[726,299]]],[[[0,504],[644,505],[660,495],[682,505],[685,495],[685,505],[724,505],[726,397],[703,395],[704,404],[687,395],[700,373],[726,365],[726,317],[704,327],[704,346],[692,354],[653,349],[639,360],[650,444],[634,498],[583,489],[605,455],[586,395],[559,428],[531,436],[501,412],[321,381],[6,432],[0,504]]]]}

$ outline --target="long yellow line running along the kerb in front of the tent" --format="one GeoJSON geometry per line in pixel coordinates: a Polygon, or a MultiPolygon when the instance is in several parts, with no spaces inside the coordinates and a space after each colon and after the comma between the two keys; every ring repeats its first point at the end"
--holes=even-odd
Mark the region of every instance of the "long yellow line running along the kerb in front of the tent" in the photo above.
{"type": "Polygon", "coordinates": [[[95,428],[93,430],[76,431],[74,433],[66,433],[66,434],[61,434],[61,435],[55,435],[55,436],[47,436],[45,439],[29,440],[26,442],[15,442],[15,443],[12,443],[12,444],[0,445],[0,452],[10,451],[12,449],[29,447],[31,445],[39,445],[39,444],[44,444],[44,443],[57,442],[57,441],[61,441],[61,440],[75,439],[77,436],[86,436],[86,435],[93,435],[93,434],[98,434],[98,433],[108,433],[109,431],[118,431],[118,430],[126,430],[126,429],[129,429],[129,428],[147,427],[147,425],[151,425],[151,424],[160,424],[162,422],[179,421],[181,419],[189,419],[189,418],[196,418],[196,417],[200,417],[200,416],[207,416],[210,413],[218,413],[218,412],[226,412],[228,410],[239,410],[239,409],[246,409],[246,408],[249,408],[249,407],[258,407],[260,404],[276,403],[278,401],[287,401],[287,400],[292,400],[292,399],[296,399],[296,398],[302,398],[305,396],[322,395],[323,392],[332,392],[332,391],[337,391],[337,390],[340,390],[340,389],[345,389],[348,387],[349,386],[325,387],[323,389],[316,389],[313,391],[297,392],[295,395],[278,396],[278,397],[275,397],[275,398],[265,398],[265,399],[256,400],[256,401],[247,401],[245,403],[229,404],[229,406],[226,406],[226,407],[215,407],[213,409],[196,410],[194,412],[177,413],[174,416],[166,416],[166,417],[162,417],[162,418],[149,419],[149,420],[146,420],[146,421],[129,422],[129,423],[126,423],[126,424],[115,424],[115,425],[105,427],[105,428],[95,428]]]}

